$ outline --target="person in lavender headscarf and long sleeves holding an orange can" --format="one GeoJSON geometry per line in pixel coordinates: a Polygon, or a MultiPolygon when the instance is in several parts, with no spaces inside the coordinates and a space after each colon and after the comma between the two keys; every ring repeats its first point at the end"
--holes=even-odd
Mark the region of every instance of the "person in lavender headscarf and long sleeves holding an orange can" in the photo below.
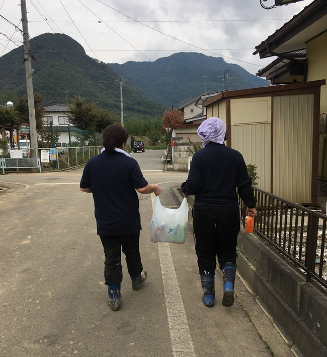
{"type": "Polygon", "coordinates": [[[257,198],[242,155],[227,146],[226,127],[222,120],[211,117],[198,129],[203,149],[197,151],[186,182],[185,197],[195,195],[193,231],[197,264],[204,290],[202,300],[212,307],[215,299],[216,256],[223,273],[222,305],[234,303],[236,245],[240,229],[238,194],[248,206],[247,215],[255,217],[257,198]]]}

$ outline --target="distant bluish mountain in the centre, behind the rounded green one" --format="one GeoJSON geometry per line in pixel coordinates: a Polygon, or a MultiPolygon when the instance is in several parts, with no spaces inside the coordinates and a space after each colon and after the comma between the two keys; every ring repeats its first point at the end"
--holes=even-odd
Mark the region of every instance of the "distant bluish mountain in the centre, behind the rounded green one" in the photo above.
{"type": "Polygon", "coordinates": [[[269,85],[242,67],[226,63],[222,57],[202,53],[175,53],[153,62],[126,62],[109,66],[146,97],[178,107],[206,91],[236,90],[269,85]],[[228,72],[226,71],[228,70],[228,72]],[[227,78],[228,74],[228,78],[227,78]]]}

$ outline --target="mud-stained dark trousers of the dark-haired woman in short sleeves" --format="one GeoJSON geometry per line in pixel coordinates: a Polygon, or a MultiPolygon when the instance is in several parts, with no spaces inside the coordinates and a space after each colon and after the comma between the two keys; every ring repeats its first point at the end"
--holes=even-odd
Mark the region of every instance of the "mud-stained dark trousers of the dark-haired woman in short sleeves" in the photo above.
{"type": "Polygon", "coordinates": [[[125,254],[129,275],[143,270],[139,251],[140,232],[131,235],[100,235],[105,252],[105,284],[118,284],[123,280],[121,250],[125,254]]]}

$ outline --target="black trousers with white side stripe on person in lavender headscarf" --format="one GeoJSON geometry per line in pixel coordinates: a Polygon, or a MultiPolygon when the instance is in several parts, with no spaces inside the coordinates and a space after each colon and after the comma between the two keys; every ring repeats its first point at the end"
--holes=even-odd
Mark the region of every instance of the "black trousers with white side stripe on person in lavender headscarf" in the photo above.
{"type": "Polygon", "coordinates": [[[236,264],[239,229],[238,205],[193,207],[194,244],[200,274],[214,273],[216,256],[220,268],[226,262],[236,264]]]}

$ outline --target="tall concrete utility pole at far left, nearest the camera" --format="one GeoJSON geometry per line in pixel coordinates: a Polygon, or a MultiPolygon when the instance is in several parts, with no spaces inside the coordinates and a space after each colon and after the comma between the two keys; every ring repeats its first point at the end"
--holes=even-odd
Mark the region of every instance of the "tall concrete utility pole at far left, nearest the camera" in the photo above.
{"type": "Polygon", "coordinates": [[[25,62],[25,72],[26,72],[28,113],[29,113],[29,121],[30,121],[30,146],[33,149],[32,153],[34,153],[34,155],[32,154],[32,156],[38,157],[33,80],[32,80],[32,74],[34,70],[32,70],[32,63],[31,63],[32,55],[30,52],[30,39],[28,34],[26,0],[21,0],[21,10],[22,10],[24,62],[25,62]]]}

